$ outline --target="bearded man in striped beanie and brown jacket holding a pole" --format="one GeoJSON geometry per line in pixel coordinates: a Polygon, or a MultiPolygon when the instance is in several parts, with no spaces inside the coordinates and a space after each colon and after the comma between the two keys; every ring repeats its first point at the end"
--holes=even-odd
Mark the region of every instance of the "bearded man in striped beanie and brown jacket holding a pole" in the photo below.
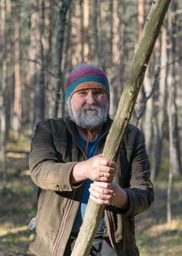
{"type": "Polygon", "coordinates": [[[68,117],[37,123],[32,140],[30,174],[41,192],[30,251],[71,255],[90,196],[105,211],[89,255],[138,256],[134,217],[154,196],[144,135],[129,124],[117,161],[102,157],[112,120],[108,80],[96,66],[71,72],[66,102],[68,117]]]}

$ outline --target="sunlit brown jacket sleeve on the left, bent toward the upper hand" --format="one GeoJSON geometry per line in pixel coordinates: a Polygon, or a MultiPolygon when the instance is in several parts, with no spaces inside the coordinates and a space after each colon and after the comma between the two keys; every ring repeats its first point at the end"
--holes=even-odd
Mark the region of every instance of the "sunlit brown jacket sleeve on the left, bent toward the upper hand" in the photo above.
{"type": "Polygon", "coordinates": [[[30,176],[45,190],[72,191],[70,174],[76,162],[63,163],[53,140],[50,124],[37,123],[29,157],[30,176]]]}

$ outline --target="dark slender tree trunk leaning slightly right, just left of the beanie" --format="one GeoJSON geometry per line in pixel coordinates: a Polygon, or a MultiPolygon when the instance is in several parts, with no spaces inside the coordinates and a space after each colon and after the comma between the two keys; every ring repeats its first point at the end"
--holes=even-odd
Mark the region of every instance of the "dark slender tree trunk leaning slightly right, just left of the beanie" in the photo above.
{"type": "Polygon", "coordinates": [[[71,4],[71,0],[63,0],[60,11],[59,20],[56,35],[56,56],[55,56],[55,80],[53,85],[53,100],[51,105],[51,117],[57,117],[59,100],[60,100],[60,89],[62,84],[62,56],[63,56],[63,44],[64,34],[66,25],[66,13],[71,4]]]}

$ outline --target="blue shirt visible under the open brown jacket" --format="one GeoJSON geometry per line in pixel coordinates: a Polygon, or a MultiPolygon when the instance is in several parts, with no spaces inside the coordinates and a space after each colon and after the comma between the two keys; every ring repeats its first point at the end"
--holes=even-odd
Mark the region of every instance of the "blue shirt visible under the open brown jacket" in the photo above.
{"type": "MultiPolygon", "coordinates": [[[[96,145],[97,145],[97,143],[98,143],[98,141],[99,141],[99,139],[101,138],[102,135],[103,135],[103,133],[101,132],[99,134],[99,136],[96,138],[95,141],[89,142],[89,144],[87,146],[87,158],[90,158],[90,157],[96,155],[96,145]]],[[[79,138],[79,141],[82,144],[83,148],[86,149],[86,141],[81,137],[81,135],[79,133],[78,133],[78,138],[79,138]]],[[[93,182],[92,180],[86,179],[86,184],[85,184],[84,191],[83,191],[83,194],[82,194],[80,206],[77,210],[76,219],[75,219],[75,222],[74,222],[72,232],[76,232],[76,233],[79,232],[79,229],[82,225],[84,215],[85,215],[85,212],[86,212],[87,201],[88,201],[88,198],[89,198],[88,188],[90,187],[90,184],[92,182],[93,182]]],[[[103,218],[101,220],[100,226],[99,226],[97,231],[103,231],[102,227],[104,226],[104,223],[105,223],[105,218],[104,218],[104,215],[103,215],[103,218]]]]}

